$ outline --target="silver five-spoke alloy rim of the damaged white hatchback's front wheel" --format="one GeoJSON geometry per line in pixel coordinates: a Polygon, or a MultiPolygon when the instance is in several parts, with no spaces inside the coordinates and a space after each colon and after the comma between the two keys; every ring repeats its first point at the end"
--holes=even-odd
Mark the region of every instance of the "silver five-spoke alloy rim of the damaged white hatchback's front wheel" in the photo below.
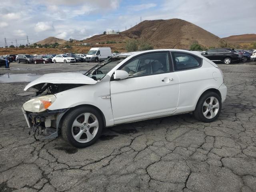
{"type": "Polygon", "coordinates": [[[77,142],[90,142],[96,136],[98,128],[96,116],[92,113],[83,113],[72,124],[72,136],[77,142]]]}

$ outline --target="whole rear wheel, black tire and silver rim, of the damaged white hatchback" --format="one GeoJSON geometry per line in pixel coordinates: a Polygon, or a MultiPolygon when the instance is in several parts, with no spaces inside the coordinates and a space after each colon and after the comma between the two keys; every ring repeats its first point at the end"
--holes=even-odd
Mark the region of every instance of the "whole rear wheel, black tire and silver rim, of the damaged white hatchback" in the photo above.
{"type": "Polygon", "coordinates": [[[197,120],[209,123],[218,118],[221,108],[220,96],[215,92],[206,92],[198,100],[193,114],[197,120]]]}

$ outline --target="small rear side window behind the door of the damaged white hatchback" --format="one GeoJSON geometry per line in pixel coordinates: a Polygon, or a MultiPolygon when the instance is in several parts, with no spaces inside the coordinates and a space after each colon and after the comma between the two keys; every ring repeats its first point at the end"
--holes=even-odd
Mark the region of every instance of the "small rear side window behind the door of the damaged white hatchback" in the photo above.
{"type": "Polygon", "coordinates": [[[202,64],[202,58],[188,53],[172,52],[172,59],[175,71],[198,68],[202,64]]]}

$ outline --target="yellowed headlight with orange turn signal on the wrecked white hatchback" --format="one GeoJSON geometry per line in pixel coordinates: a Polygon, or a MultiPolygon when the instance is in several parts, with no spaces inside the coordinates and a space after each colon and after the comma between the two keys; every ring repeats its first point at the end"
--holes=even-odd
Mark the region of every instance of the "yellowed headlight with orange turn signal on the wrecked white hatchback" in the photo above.
{"type": "Polygon", "coordinates": [[[31,99],[23,104],[25,111],[42,112],[45,111],[56,100],[55,95],[46,95],[31,99]]]}

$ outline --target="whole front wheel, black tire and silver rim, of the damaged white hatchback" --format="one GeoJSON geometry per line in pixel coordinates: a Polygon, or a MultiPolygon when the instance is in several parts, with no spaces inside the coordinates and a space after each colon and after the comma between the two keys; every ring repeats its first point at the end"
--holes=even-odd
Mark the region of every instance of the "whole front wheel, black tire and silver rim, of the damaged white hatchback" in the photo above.
{"type": "Polygon", "coordinates": [[[75,108],[64,118],[62,136],[77,148],[94,144],[101,135],[103,120],[100,112],[91,107],[75,108]]]}

